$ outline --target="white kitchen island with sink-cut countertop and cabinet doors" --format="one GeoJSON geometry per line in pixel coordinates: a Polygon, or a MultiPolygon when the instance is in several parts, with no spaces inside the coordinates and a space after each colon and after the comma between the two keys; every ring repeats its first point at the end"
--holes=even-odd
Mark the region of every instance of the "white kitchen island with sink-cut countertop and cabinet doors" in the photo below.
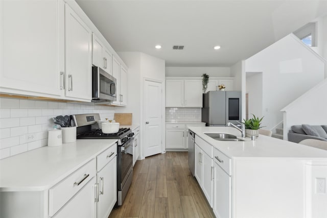
{"type": "Polygon", "coordinates": [[[217,217],[327,217],[327,151],[264,135],[252,141],[232,127],[190,130],[195,177],[217,217]]]}

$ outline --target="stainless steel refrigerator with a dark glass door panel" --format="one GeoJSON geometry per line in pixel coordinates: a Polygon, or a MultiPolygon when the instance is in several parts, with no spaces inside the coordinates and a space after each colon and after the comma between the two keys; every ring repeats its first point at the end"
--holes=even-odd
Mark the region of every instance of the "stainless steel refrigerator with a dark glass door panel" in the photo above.
{"type": "Polygon", "coordinates": [[[225,126],[242,121],[241,91],[208,91],[203,93],[202,122],[206,126],[225,126]]]}

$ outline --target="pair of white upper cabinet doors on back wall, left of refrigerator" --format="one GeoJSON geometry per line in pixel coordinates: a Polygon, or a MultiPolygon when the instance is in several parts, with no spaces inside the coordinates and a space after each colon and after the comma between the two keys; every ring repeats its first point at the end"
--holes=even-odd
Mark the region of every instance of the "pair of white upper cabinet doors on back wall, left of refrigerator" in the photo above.
{"type": "Polygon", "coordinates": [[[202,81],[166,80],[166,107],[202,107],[202,81]]]}

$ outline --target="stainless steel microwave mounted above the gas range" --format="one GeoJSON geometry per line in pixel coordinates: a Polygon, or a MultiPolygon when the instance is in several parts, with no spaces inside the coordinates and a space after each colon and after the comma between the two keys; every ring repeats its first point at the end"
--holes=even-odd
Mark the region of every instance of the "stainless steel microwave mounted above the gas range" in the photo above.
{"type": "Polygon", "coordinates": [[[97,66],[92,66],[92,102],[116,101],[116,79],[97,66]]]}

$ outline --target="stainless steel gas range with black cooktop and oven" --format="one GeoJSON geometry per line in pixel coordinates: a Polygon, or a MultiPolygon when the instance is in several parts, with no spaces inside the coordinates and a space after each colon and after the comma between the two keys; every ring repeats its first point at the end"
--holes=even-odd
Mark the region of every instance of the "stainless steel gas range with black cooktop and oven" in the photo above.
{"type": "Polygon", "coordinates": [[[122,205],[133,178],[133,135],[129,128],[120,128],[117,133],[105,134],[99,129],[99,114],[73,115],[78,139],[118,139],[117,189],[118,205],[122,205]]]}

